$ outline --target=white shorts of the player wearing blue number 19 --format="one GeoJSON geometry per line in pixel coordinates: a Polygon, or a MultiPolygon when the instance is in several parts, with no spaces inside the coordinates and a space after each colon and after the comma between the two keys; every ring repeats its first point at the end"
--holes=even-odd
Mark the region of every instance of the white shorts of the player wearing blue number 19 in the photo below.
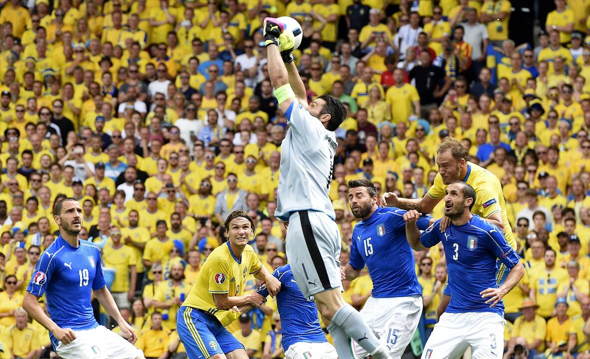
{"type": "Polygon", "coordinates": [[[55,353],[63,359],[135,359],[141,351],[123,337],[99,325],[89,330],[76,330],[76,340],[60,342],[55,353]]]}

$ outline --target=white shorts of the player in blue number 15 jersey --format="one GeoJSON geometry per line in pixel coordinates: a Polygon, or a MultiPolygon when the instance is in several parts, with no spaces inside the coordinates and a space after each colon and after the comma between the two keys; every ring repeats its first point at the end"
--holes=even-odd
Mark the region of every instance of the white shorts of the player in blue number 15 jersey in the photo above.
{"type": "MultiPolygon", "coordinates": [[[[369,297],[360,309],[360,314],[373,333],[379,337],[379,341],[389,349],[391,357],[399,359],[414,337],[422,308],[424,305],[421,295],[399,298],[369,297]]],[[[352,348],[358,358],[369,355],[356,342],[353,342],[352,348]]]]}

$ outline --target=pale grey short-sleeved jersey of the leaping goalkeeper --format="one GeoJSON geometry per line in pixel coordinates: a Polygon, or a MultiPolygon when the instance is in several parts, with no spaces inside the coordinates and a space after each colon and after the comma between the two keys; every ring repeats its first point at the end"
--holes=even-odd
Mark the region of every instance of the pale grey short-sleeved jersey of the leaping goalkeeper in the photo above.
{"type": "Polygon", "coordinates": [[[328,196],[336,153],[336,136],[301,104],[293,101],[285,117],[289,130],[281,144],[276,216],[289,220],[291,212],[318,210],[335,219],[328,196]]]}

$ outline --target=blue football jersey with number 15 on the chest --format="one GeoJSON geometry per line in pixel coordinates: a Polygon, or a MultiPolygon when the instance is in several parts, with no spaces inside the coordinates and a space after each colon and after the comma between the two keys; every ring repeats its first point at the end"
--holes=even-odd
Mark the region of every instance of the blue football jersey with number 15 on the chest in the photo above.
{"type": "MultiPolygon", "coordinates": [[[[375,298],[408,297],[422,294],[415,273],[414,252],[405,235],[404,213],[399,208],[378,208],[371,218],[361,220],[352,232],[352,268],[369,269],[375,298]]],[[[427,229],[429,217],[418,219],[427,229]]]]}

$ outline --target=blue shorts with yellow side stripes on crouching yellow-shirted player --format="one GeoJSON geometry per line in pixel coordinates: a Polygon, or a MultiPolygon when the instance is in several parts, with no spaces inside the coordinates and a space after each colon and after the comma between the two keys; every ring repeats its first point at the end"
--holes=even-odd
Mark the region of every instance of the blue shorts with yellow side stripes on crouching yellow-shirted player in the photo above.
{"type": "Polygon", "coordinates": [[[189,359],[207,359],[215,354],[244,349],[213,315],[182,306],[178,309],[176,329],[189,359]]]}

